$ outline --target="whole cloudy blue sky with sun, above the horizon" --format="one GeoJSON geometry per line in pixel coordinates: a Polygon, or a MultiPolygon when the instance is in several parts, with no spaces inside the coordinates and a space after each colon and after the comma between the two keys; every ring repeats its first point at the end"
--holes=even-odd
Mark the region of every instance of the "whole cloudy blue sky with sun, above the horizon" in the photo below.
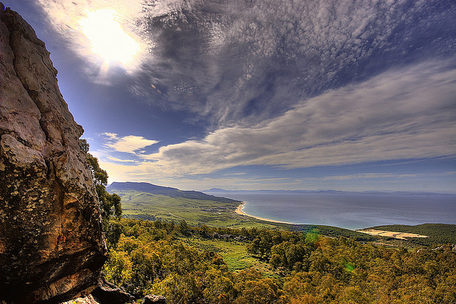
{"type": "Polygon", "coordinates": [[[456,193],[456,1],[2,1],[109,182],[456,193]]]}

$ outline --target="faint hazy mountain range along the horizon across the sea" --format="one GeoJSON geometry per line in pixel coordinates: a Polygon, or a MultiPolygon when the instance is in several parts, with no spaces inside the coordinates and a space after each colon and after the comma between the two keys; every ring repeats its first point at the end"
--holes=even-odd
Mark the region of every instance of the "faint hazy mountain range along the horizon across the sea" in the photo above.
{"type": "Polygon", "coordinates": [[[391,191],[391,192],[381,192],[381,191],[363,191],[363,192],[347,192],[339,190],[327,190],[327,189],[318,189],[318,190],[225,190],[220,188],[212,188],[209,190],[204,190],[204,193],[258,193],[258,194],[301,194],[301,193],[321,193],[321,194],[397,194],[397,195],[455,195],[455,194],[445,194],[445,193],[435,193],[435,192],[404,192],[404,191],[391,191]]]}

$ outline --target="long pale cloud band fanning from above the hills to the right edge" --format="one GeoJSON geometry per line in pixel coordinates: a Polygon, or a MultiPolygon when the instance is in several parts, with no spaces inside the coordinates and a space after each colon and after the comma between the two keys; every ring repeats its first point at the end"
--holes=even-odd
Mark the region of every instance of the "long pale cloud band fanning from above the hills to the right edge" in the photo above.
{"type": "Polygon", "coordinates": [[[451,65],[428,61],[390,70],[302,100],[260,124],[222,127],[202,140],[163,146],[153,154],[135,150],[142,159],[138,166],[115,168],[165,177],[247,165],[295,169],[455,158],[456,69],[447,69],[451,65]]]}

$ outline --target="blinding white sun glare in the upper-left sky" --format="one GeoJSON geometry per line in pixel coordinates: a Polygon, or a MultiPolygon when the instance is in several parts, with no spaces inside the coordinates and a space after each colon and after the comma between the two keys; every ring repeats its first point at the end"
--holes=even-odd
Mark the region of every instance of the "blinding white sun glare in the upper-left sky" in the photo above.
{"type": "Polygon", "coordinates": [[[140,45],[123,31],[115,20],[113,9],[90,11],[79,21],[83,34],[90,40],[93,53],[105,63],[130,63],[140,51],[140,45]]]}

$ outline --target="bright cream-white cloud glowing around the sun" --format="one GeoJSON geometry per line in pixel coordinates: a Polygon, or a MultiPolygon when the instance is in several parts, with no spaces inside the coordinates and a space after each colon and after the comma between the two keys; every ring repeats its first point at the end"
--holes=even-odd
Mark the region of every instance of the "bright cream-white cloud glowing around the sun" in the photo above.
{"type": "MultiPolygon", "coordinates": [[[[75,1],[61,1],[61,0],[38,0],[38,4],[41,9],[45,12],[48,17],[48,23],[51,25],[54,31],[59,33],[66,43],[71,45],[71,49],[83,57],[90,66],[85,67],[87,71],[93,71],[93,65],[100,65],[101,69],[107,69],[108,67],[103,66],[103,54],[100,51],[100,41],[103,41],[105,45],[103,48],[104,52],[108,52],[110,57],[113,57],[115,52],[118,50],[108,49],[106,44],[110,43],[115,46],[115,41],[110,33],[106,33],[105,36],[98,34],[96,37],[92,37],[95,33],[95,29],[100,31],[110,31],[110,28],[115,31],[117,36],[122,36],[125,41],[131,40],[131,43],[138,44],[140,40],[138,33],[133,27],[133,16],[139,14],[142,9],[142,1],[115,1],[115,0],[98,0],[98,1],[86,1],[86,0],[75,0],[75,1]],[[111,16],[106,16],[105,12],[111,12],[111,16]],[[93,17],[89,19],[88,17],[93,17]],[[104,17],[104,18],[103,18],[104,17]],[[113,19],[114,17],[114,19],[113,19]],[[96,20],[101,19],[101,20],[96,20]],[[90,23],[88,22],[90,21],[90,23]],[[103,24],[105,22],[105,24],[103,24]],[[84,27],[86,25],[86,27],[84,27]],[[89,26],[90,25],[90,26],[89,26]],[[92,36],[90,36],[92,34],[92,36]],[[90,40],[92,38],[92,40],[90,40]],[[136,42],[134,42],[136,41],[136,42]],[[95,45],[93,45],[95,43],[95,45]],[[98,48],[96,43],[98,43],[98,48]],[[95,48],[95,51],[94,51],[95,48]]],[[[139,44],[138,44],[139,47],[139,44]]],[[[117,48],[123,49],[125,46],[117,46],[117,48]]],[[[145,51],[145,46],[142,46],[142,51],[145,51]]],[[[118,56],[118,54],[116,55],[118,56]]],[[[125,55],[123,55],[125,59],[125,55]]],[[[108,58],[109,59],[109,58],[108,58]]],[[[128,65],[124,63],[122,66],[125,70],[132,70],[136,68],[139,61],[129,62],[128,65]]],[[[103,70],[105,72],[105,70],[103,70]]],[[[97,80],[94,78],[94,80],[97,80]]],[[[98,79],[99,80],[99,79],[98,79]]]]}

